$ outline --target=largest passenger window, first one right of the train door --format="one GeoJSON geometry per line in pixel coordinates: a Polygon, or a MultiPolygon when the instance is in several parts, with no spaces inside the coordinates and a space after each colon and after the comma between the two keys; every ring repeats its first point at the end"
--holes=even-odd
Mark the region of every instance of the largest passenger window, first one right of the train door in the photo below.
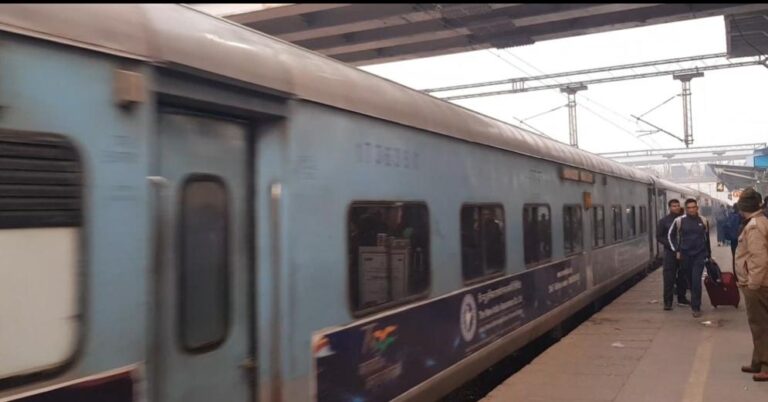
{"type": "Polygon", "coordinates": [[[427,291],[429,212],[422,203],[355,202],[349,209],[349,271],[357,313],[427,291]]]}

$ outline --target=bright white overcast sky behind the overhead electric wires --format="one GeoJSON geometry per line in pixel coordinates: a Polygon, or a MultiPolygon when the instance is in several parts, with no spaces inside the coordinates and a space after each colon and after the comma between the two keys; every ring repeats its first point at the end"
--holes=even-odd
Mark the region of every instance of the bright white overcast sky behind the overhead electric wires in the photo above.
{"type": "MultiPolygon", "coordinates": [[[[426,89],[725,51],[724,19],[712,17],[362,69],[415,89],[426,89]]],[[[638,131],[649,127],[630,116],[643,114],[680,93],[680,82],[669,75],[590,85],[577,94],[580,148],[600,153],[684,147],[682,142],[662,133],[638,138],[643,134],[638,131]]],[[[703,78],[691,82],[691,93],[692,146],[768,141],[766,67],[705,72],[703,78]]],[[[525,119],[566,102],[566,96],[557,89],[455,101],[515,125],[519,125],[515,118],[525,119]]],[[[675,98],[645,118],[682,137],[682,98],[675,98]]],[[[567,108],[526,120],[526,123],[568,142],[567,108]]]]}

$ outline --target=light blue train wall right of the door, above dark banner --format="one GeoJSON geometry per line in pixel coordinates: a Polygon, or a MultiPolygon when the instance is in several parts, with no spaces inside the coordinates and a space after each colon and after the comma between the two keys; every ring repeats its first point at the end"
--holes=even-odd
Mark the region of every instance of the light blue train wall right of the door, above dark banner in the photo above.
{"type": "MultiPolygon", "coordinates": [[[[283,349],[290,355],[286,354],[282,363],[289,400],[311,400],[310,393],[317,386],[312,378],[313,333],[352,325],[358,319],[375,321],[376,317],[465,289],[459,219],[462,205],[503,205],[506,275],[530,271],[523,259],[525,204],[549,204],[549,261],[580,260],[584,281],[587,277],[594,281],[585,286],[606,283],[650,262],[648,238],[640,234],[639,226],[639,207],[646,213],[649,207],[645,183],[613,177],[605,185],[601,179],[594,184],[568,182],[560,178],[560,166],[553,162],[310,103],[294,105],[287,135],[290,166],[283,188],[287,282],[281,289],[292,296],[283,298],[288,305],[281,311],[288,321],[283,349]],[[636,233],[631,240],[608,245],[599,250],[600,254],[590,256],[591,211],[583,210],[583,252],[566,258],[563,207],[582,204],[585,191],[592,193],[594,204],[620,205],[619,219],[623,222],[625,207],[633,206],[636,233]],[[365,316],[353,311],[347,229],[349,209],[358,201],[417,201],[427,205],[431,278],[422,298],[365,316]]],[[[611,222],[606,222],[606,235],[611,222]]],[[[623,228],[626,239],[626,223],[623,228]]]]}

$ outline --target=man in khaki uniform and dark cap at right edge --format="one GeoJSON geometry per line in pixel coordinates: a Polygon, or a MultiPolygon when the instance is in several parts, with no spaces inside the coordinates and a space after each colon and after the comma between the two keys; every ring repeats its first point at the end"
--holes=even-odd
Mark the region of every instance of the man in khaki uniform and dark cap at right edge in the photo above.
{"type": "Polygon", "coordinates": [[[752,363],[741,371],[768,381],[768,218],[760,210],[760,193],[746,189],[738,207],[745,222],[736,248],[736,276],[747,305],[752,331],[752,363]]]}

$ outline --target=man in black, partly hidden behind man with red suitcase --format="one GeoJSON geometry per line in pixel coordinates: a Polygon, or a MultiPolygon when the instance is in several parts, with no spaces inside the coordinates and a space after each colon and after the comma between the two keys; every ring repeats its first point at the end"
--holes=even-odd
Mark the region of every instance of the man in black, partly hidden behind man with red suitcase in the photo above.
{"type": "Polygon", "coordinates": [[[680,269],[680,262],[675,257],[675,251],[667,236],[672,223],[682,214],[680,201],[669,200],[667,206],[669,214],[661,218],[656,225],[656,241],[664,246],[664,310],[669,311],[672,310],[672,294],[675,287],[677,287],[677,304],[687,306],[691,303],[685,298],[685,292],[688,290],[688,276],[680,269]]]}

